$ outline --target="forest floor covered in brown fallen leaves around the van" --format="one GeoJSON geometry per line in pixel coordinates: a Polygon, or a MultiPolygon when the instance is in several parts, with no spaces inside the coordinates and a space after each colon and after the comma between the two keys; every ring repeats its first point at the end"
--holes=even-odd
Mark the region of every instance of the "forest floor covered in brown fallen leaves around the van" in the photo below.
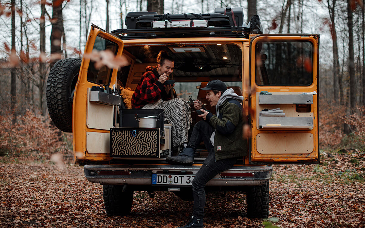
{"type": "MultiPolygon", "coordinates": [[[[270,218],[277,227],[365,227],[365,154],[322,152],[320,165],[274,165],[270,218]]],[[[69,161],[0,157],[0,227],[177,227],[192,202],[135,192],[128,216],[105,214],[102,186],[69,161]]],[[[208,193],[204,227],[265,227],[248,219],[244,193],[208,193]]],[[[272,227],[267,225],[266,227],[272,227]]]]}

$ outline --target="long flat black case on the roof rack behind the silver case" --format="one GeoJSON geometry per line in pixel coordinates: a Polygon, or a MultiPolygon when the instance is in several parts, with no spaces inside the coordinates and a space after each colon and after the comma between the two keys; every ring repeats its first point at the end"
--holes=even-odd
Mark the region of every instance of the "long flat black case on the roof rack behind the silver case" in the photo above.
{"type": "Polygon", "coordinates": [[[229,16],[221,13],[143,15],[137,18],[137,24],[141,27],[151,28],[151,22],[165,20],[207,20],[208,26],[229,26],[229,16]]]}

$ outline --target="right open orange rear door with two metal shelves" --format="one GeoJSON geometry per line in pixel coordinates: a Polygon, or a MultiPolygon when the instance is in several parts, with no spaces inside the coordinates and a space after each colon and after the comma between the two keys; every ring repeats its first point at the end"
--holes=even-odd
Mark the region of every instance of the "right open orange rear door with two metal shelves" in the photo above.
{"type": "Polygon", "coordinates": [[[317,163],[318,34],[250,38],[250,163],[317,163]]]}

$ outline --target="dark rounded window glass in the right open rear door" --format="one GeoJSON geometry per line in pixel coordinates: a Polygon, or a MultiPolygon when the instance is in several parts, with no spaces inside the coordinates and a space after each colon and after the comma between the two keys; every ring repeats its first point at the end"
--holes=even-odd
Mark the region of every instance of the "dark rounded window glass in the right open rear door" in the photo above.
{"type": "Polygon", "coordinates": [[[313,82],[313,45],[311,42],[258,42],[256,84],[308,86],[313,82]]]}

